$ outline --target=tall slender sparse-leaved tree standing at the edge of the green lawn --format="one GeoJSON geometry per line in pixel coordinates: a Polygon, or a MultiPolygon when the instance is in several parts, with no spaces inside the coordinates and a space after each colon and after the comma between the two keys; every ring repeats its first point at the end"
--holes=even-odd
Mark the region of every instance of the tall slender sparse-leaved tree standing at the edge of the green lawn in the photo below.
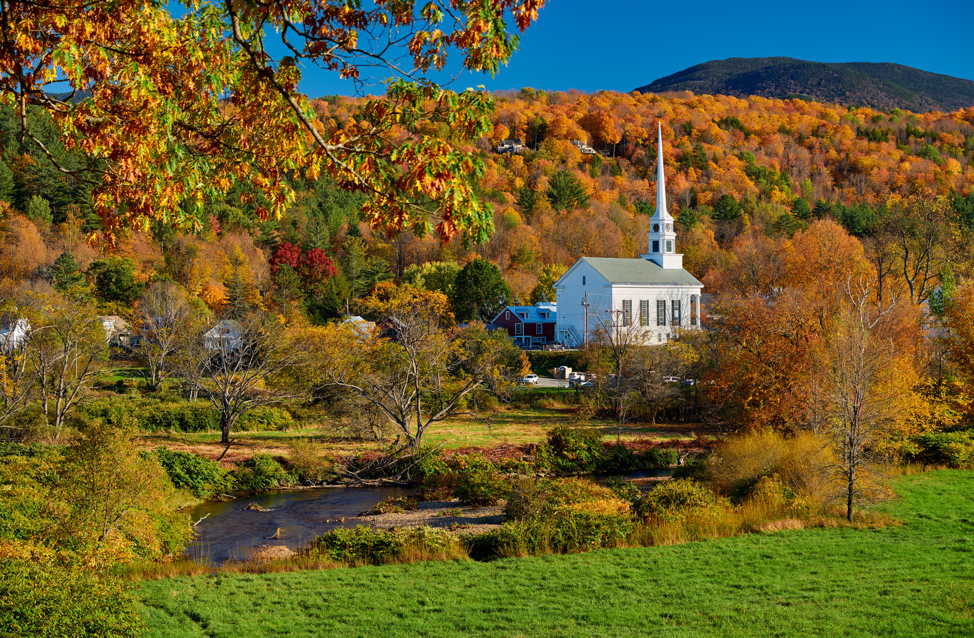
{"type": "Polygon", "coordinates": [[[903,390],[891,365],[892,342],[876,338],[855,314],[838,322],[827,354],[822,428],[839,457],[832,469],[841,478],[839,497],[852,522],[853,506],[881,496],[875,464],[884,436],[903,417],[903,390]]]}

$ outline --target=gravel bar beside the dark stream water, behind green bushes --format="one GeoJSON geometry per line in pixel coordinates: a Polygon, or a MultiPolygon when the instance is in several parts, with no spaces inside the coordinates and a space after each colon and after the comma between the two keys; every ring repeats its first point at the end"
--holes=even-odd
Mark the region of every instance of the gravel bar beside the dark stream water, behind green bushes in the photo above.
{"type": "Polygon", "coordinates": [[[429,525],[457,534],[480,534],[501,527],[501,521],[504,520],[504,506],[504,501],[489,507],[465,507],[461,506],[459,501],[429,501],[420,503],[419,507],[410,511],[369,514],[346,519],[346,522],[360,521],[362,525],[371,525],[383,530],[392,527],[429,525]]]}

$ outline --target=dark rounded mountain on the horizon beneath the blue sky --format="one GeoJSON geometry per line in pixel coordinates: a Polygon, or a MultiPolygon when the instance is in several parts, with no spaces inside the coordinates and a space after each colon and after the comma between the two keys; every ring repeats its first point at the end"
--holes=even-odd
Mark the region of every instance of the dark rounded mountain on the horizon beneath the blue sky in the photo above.
{"type": "Polygon", "coordinates": [[[811,97],[820,102],[955,111],[974,106],[974,82],[891,62],[809,62],[794,57],[715,59],[639,87],[737,97],[811,97]]]}

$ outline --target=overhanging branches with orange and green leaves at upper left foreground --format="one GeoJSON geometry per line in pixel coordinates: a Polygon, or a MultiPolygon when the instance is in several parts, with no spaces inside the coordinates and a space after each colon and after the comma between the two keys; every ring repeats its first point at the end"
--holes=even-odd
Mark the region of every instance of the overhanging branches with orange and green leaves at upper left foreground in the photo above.
{"type": "Polygon", "coordinates": [[[440,137],[397,133],[437,121],[465,143],[490,131],[490,94],[444,89],[435,74],[449,54],[468,71],[496,73],[518,43],[506,20],[523,31],[543,4],[225,2],[182,7],[176,17],[131,0],[45,8],[13,0],[3,12],[0,100],[16,109],[21,146],[91,185],[108,242],[113,229],[152,218],[198,228],[206,202],[238,180],[262,196],[261,219],[280,214],[295,201],[285,178],[292,171],[327,173],[366,194],[362,212],[374,228],[482,242],[493,215],[470,177],[482,174],[483,160],[440,137]],[[266,47],[275,36],[281,59],[266,47]],[[296,90],[305,65],[359,86],[368,72],[391,81],[344,126],[321,126],[296,90]],[[52,78],[71,93],[48,93],[52,78]],[[74,99],[82,92],[86,99],[74,99]],[[87,158],[83,167],[58,161],[27,126],[35,109],[87,158]]]}

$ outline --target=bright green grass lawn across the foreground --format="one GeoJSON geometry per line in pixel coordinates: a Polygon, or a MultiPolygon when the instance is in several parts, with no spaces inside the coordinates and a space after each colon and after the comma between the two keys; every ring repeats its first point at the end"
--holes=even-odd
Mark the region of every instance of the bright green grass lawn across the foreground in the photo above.
{"type": "Polygon", "coordinates": [[[141,611],[153,638],[974,635],[974,471],[896,487],[881,530],[178,578],[141,611]]]}

